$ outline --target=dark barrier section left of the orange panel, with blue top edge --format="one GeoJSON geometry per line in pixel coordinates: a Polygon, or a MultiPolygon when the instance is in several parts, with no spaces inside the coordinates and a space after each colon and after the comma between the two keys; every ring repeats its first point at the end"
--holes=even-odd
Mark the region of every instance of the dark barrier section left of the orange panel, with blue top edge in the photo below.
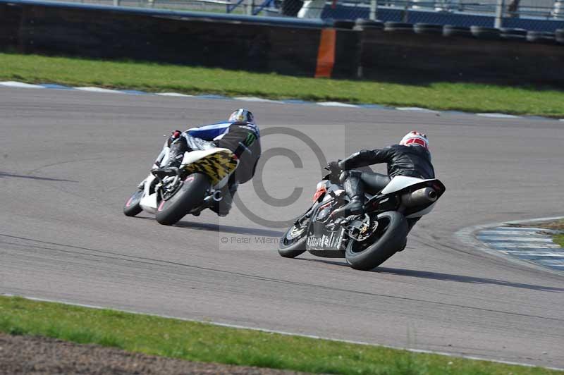
{"type": "Polygon", "coordinates": [[[328,21],[0,1],[0,47],[313,76],[328,21]]]}

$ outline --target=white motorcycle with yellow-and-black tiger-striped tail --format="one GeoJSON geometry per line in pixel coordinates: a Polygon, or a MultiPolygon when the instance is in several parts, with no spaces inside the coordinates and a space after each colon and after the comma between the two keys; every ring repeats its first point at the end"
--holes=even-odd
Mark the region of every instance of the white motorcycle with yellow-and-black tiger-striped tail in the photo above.
{"type": "Polygon", "coordinates": [[[159,223],[171,226],[187,214],[200,215],[223,199],[221,189],[239,162],[230,149],[185,152],[178,168],[159,169],[166,165],[169,152],[165,145],[149,176],[125,202],[123,214],[146,211],[155,214],[159,223]]]}

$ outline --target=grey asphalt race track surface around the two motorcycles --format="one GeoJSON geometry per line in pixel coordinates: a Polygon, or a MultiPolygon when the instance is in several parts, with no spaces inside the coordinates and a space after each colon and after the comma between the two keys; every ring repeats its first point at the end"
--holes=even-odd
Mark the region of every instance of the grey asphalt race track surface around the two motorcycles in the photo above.
{"type": "Polygon", "coordinates": [[[0,293],[562,368],[564,276],[454,233],[562,215],[563,146],[564,123],[540,119],[2,88],[0,293]],[[172,227],[123,216],[163,134],[237,106],[266,134],[264,189],[240,187],[263,219],[300,214],[321,176],[309,146],[273,127],[314,138],[327,159],[415,128],[429,135],[447,192],[407,249],[370,272],[283,259],[267,243],[283,228],[240,208],[172,227]],[[281,156],[291,152],[297,167],[281,156]],[[298,202],[276,207],[300,187],[298,202]],[[258,198],[265,192],[270,200],[258,198]]]}

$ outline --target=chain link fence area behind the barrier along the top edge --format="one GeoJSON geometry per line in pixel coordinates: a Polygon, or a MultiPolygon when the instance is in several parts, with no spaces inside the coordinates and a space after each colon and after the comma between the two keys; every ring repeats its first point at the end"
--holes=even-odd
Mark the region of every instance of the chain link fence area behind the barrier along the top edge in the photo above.
{"type": "Polygon", "coordinates": [[[468,27],[495,24],[541,31],[564,28],[564,0],[66,0],[69,1],[249,16],[365,18],[468,27]]]}

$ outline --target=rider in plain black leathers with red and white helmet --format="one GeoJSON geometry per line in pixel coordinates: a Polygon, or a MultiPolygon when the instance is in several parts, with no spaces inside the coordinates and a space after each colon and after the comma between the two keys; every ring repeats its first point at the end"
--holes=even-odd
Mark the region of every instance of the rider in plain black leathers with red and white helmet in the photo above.
{"type": "MultiPolygon", "coordinates": [[[[429,152],[429,139],[427,135],[416,131],[407,133],[398,145],[391,145],[383,149],[363,149],[344,160],[333,161],[329,163],[329,169],[333,178],[338,176],[350,198],[348,204],[333,211],[333,217],[362,214],[364,191],[377,194],[390,183],[394,176],[435,178],[429,152]],[[387,176],[354,169],[379,163],[388,164],[387,176]]],[[[417,220],[419,218],[407,219],[409,230],[413,228],[417,220]]]]}

